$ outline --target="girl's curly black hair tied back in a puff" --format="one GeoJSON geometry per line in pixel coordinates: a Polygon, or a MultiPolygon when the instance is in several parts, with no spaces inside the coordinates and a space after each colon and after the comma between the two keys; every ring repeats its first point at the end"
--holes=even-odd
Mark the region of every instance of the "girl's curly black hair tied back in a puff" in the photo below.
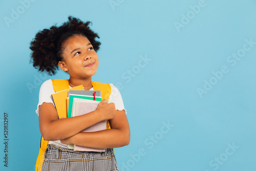
{"type": "Polygon", "coordinates": [[[93,32],[89,24],[82,22],[79,18],[68,17],[69,21],[61,26],[52,26],[50,29],[39,31],[30,43],[32,50],[30,63],[40,72],[47,72],[49,75],[56,74],[59,69],[58,62],[63,61],[65,43],[73,35],[83,35],[91,42],[94,50],[99,50],[100,42],[98,34],[93,32]]]}

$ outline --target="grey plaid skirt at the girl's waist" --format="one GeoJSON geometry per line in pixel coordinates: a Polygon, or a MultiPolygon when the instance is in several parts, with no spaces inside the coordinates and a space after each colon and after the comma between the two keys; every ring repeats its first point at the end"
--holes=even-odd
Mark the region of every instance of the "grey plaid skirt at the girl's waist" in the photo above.
{"type": "Polygon", "coordinates": [[[46,170],[116,171],[118,166],[113,148],[108,148],[105,152],[78,152],[48,144],[42,163],[42,171],[46,170]]]}

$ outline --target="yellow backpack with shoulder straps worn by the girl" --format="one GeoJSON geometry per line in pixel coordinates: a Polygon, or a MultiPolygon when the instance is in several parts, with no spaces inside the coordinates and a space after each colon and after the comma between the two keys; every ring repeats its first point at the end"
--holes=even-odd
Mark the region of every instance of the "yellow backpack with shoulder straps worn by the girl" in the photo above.
{"type": "MultiPolygon", "coordinates": [[[[69,89],[69,80],[67,79],[52,79],[53,89],[56,92],[69,89]]],[[[106,101],[109,101],[109,96],[111,94],[111,87],[108,83],[101,83],[101,82],[94,82],[92,81],[93,89],[100,90],[102,99],[106,99],[106,101]]],[[[61,118],[61,117],[59,117],[61,118]]],[[[109,121],[106,122],[106,129],[111,129],[109,121]]],[[[41,171],[42,169],[42,162],[44,162],[45,159],[45,151],[47,148],[49,141],[44,140],[41,136],[40,141],[40,148],[39,148],[39,154],[36,160],[35,170],[38,169],[38,171],[41,171]]]]}

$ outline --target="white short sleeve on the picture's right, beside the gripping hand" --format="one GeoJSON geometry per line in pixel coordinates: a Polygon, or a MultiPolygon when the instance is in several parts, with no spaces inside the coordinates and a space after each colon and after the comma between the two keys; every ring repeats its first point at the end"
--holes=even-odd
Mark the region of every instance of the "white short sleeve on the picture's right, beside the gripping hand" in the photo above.
{"type": "Polygon", "coordinates": [[[113,84],[110,84],[110,87],[111,87],[111,94],[109,97],[109,102],[115,103],[116,110],[118,111],[124,110],[125,114],[127,114],[126,110],[124,109],[123,99],[119,90],[113,84]]]}

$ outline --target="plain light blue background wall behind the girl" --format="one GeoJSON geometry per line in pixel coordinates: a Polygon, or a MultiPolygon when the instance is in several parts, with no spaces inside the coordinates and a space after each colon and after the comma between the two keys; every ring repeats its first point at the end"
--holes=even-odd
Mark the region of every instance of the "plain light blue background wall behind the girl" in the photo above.
{"type": "Polygon", "coordinates": [[[256,170],[255,0],[22,2],[0,2],[1,170],[34,170],[40,85],[69,77],[38,73],[30,41],[69,15],[100,35],[93,80],[122,85],[131,143],[116,148],[120,170],[256,170]]]}

